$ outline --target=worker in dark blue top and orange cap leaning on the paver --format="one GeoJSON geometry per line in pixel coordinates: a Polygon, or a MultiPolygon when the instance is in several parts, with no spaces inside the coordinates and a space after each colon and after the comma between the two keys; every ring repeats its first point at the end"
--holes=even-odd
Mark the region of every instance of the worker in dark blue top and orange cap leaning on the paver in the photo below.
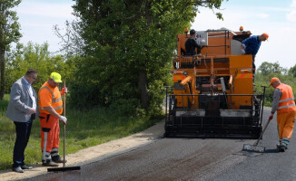
{"type": "Polygon", "coordinates": [[[257,52],[260,49],[261,42],[265,42],[268,39],[269,35],[268,33],[262,33],[261,35],[255,35],[251,36],[245,40],[242,41],[242,54],[252,54],[252,75],[253,75],[253,81],[254,81],[254,74],[256,71],[256,65],[255,65],[255,57],[257,52]]]}

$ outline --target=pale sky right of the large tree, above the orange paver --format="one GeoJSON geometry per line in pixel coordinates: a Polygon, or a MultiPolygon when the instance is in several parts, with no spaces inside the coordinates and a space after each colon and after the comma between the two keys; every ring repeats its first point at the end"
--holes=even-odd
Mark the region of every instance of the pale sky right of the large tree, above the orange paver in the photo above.
{"type": "Polygon", "coordinates": [[[262,62],[279,62],[283,68],[296,64],[296,0],[229,0],[222,3],[223,21],[208,8],[200,8],[192,28],[198,31],[225,27],[239,31],[242,25],[252,35],[268,33],[256,55],[257,68],[262,62]]]}

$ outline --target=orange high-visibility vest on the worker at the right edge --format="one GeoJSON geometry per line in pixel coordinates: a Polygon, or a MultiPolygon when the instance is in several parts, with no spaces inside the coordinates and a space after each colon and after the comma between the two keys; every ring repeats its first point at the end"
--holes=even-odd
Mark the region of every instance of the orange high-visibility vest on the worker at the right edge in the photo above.
{"type": "Polygon", "coordinates": [[[281,83],[277,89],[281,90],[281,99],[278,105],[278,113],[296,111],[293,91],[289,85],[281,83]]]}

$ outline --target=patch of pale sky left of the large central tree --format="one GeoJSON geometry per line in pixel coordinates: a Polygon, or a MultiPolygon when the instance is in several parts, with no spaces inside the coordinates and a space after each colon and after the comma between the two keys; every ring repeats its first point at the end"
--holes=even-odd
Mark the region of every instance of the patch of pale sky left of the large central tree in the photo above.
{"type": "Polygon", "coordinates": [[[48,43],[50,52],[57,52],[60,39],[54,33],[57,24],[63,31],[65,21],[75,19],[72,0],[22,0],[15,8],[21,24],[21,43],[48,43]]]}

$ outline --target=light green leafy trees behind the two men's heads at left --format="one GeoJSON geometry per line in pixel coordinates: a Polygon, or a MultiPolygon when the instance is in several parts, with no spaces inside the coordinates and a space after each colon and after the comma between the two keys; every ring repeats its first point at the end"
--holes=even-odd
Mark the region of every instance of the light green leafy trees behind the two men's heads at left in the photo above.
{"type": "Polygon", "coordinates": [[[6,55],[5,62],[5,93],[10,91],[11,85],[22,77],[30,68],[38,72],[38,79],[33,86],[35,90],[47,81],[51,72],[56,71],[62,75],[63,80],[70,80],[74,71],[74,61],[64,59],[62,55],[54,55],[48,51],[48,44],[27,43],[26,45],[17,43],[14,50],[6,55]]]}

